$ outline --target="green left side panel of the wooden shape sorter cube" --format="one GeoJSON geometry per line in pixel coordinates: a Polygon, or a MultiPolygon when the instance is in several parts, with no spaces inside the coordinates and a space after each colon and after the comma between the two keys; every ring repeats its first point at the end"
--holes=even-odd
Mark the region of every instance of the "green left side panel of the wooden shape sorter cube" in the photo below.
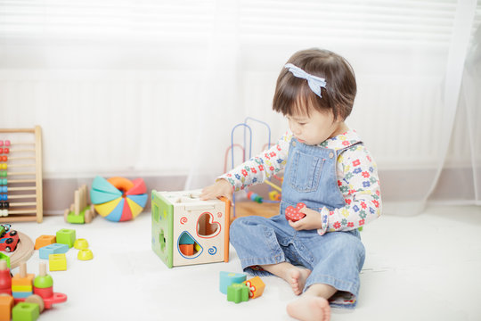
{"type": "Polygon", "coordinates": [[[153,190],[152,208],[152,251],[168,268],[174,266],[174,206],[160,193],[153,190]]]}

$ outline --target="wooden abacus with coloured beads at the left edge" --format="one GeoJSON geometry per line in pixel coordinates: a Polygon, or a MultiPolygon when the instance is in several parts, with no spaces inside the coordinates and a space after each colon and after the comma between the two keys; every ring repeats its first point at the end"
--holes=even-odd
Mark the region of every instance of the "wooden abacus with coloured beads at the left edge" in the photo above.
{"type": "Polygon", "coordinates": [[[3,193],[0,223],[36,220],[41,223],[42,128],[0,128],[1,134],[8,136],[9,141],[0,136],[0,144],[4,145],[0,146],[0,188],[3,193]]]}

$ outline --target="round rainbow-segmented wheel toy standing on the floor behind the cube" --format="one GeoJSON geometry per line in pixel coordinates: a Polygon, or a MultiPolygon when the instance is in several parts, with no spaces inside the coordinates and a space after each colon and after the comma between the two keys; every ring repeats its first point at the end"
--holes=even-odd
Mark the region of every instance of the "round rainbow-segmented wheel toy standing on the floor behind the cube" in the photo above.
{"type": "Polygon", "coordinates": [[[95,177],[90,190],[90,201],[104,218],[122,222],[139,215],[147,202],[147,188],[142,178],[95,177]]]}

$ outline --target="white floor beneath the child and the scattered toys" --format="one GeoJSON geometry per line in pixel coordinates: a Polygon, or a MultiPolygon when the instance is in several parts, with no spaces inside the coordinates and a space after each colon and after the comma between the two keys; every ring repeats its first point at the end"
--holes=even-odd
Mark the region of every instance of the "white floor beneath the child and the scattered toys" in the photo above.
{"type": "MultiPolygon", "coordinates": [[[[94,259],[67,253],[68,270],[50,272],[53,289],[69,296],[39,320],[289,320],[295,296],[288,284],[264,277],[264,294],[235,304],[218,290],[220,271],[241,272],[231,247],[229,263],[167,268],[151,251],[151,218],[69,225],[61,217],[16,223],[29,235],[74,228],[94,259]]],[[[385,215],[362,233],[367,257],[355,310],[334,309],[332,320],[481,320],[481,208],[430,207],[415,217],[385,215]]],[[[38,251],[28,261],[38,272],[38,251]]],[[[16,273],[16,270],[13,271],[16,273]]]]}

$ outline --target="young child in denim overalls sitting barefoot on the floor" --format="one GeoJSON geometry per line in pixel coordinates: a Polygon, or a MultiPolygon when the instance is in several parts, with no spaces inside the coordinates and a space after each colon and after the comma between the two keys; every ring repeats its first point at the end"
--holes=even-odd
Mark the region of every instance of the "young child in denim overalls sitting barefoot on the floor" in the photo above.
{"type": "Polygon", "coordinates": [[[329,320],[330,305],[355,307],[364,262],[358,227],[380,214],[376,164],[344,122],[355,94],[354,71],[344,58],[319,49],[294,53],[273,97],[273,110],[287,117],[290,130],[200,196],[232,199],[233,191],[284,169],[280,214],[237,218],[230,236],[245,272],[280,276],[302,293],[287,306],[299,320],[329,320]],[[299,202],[306,216],[286,219],[286,209],[299,202]]]}

